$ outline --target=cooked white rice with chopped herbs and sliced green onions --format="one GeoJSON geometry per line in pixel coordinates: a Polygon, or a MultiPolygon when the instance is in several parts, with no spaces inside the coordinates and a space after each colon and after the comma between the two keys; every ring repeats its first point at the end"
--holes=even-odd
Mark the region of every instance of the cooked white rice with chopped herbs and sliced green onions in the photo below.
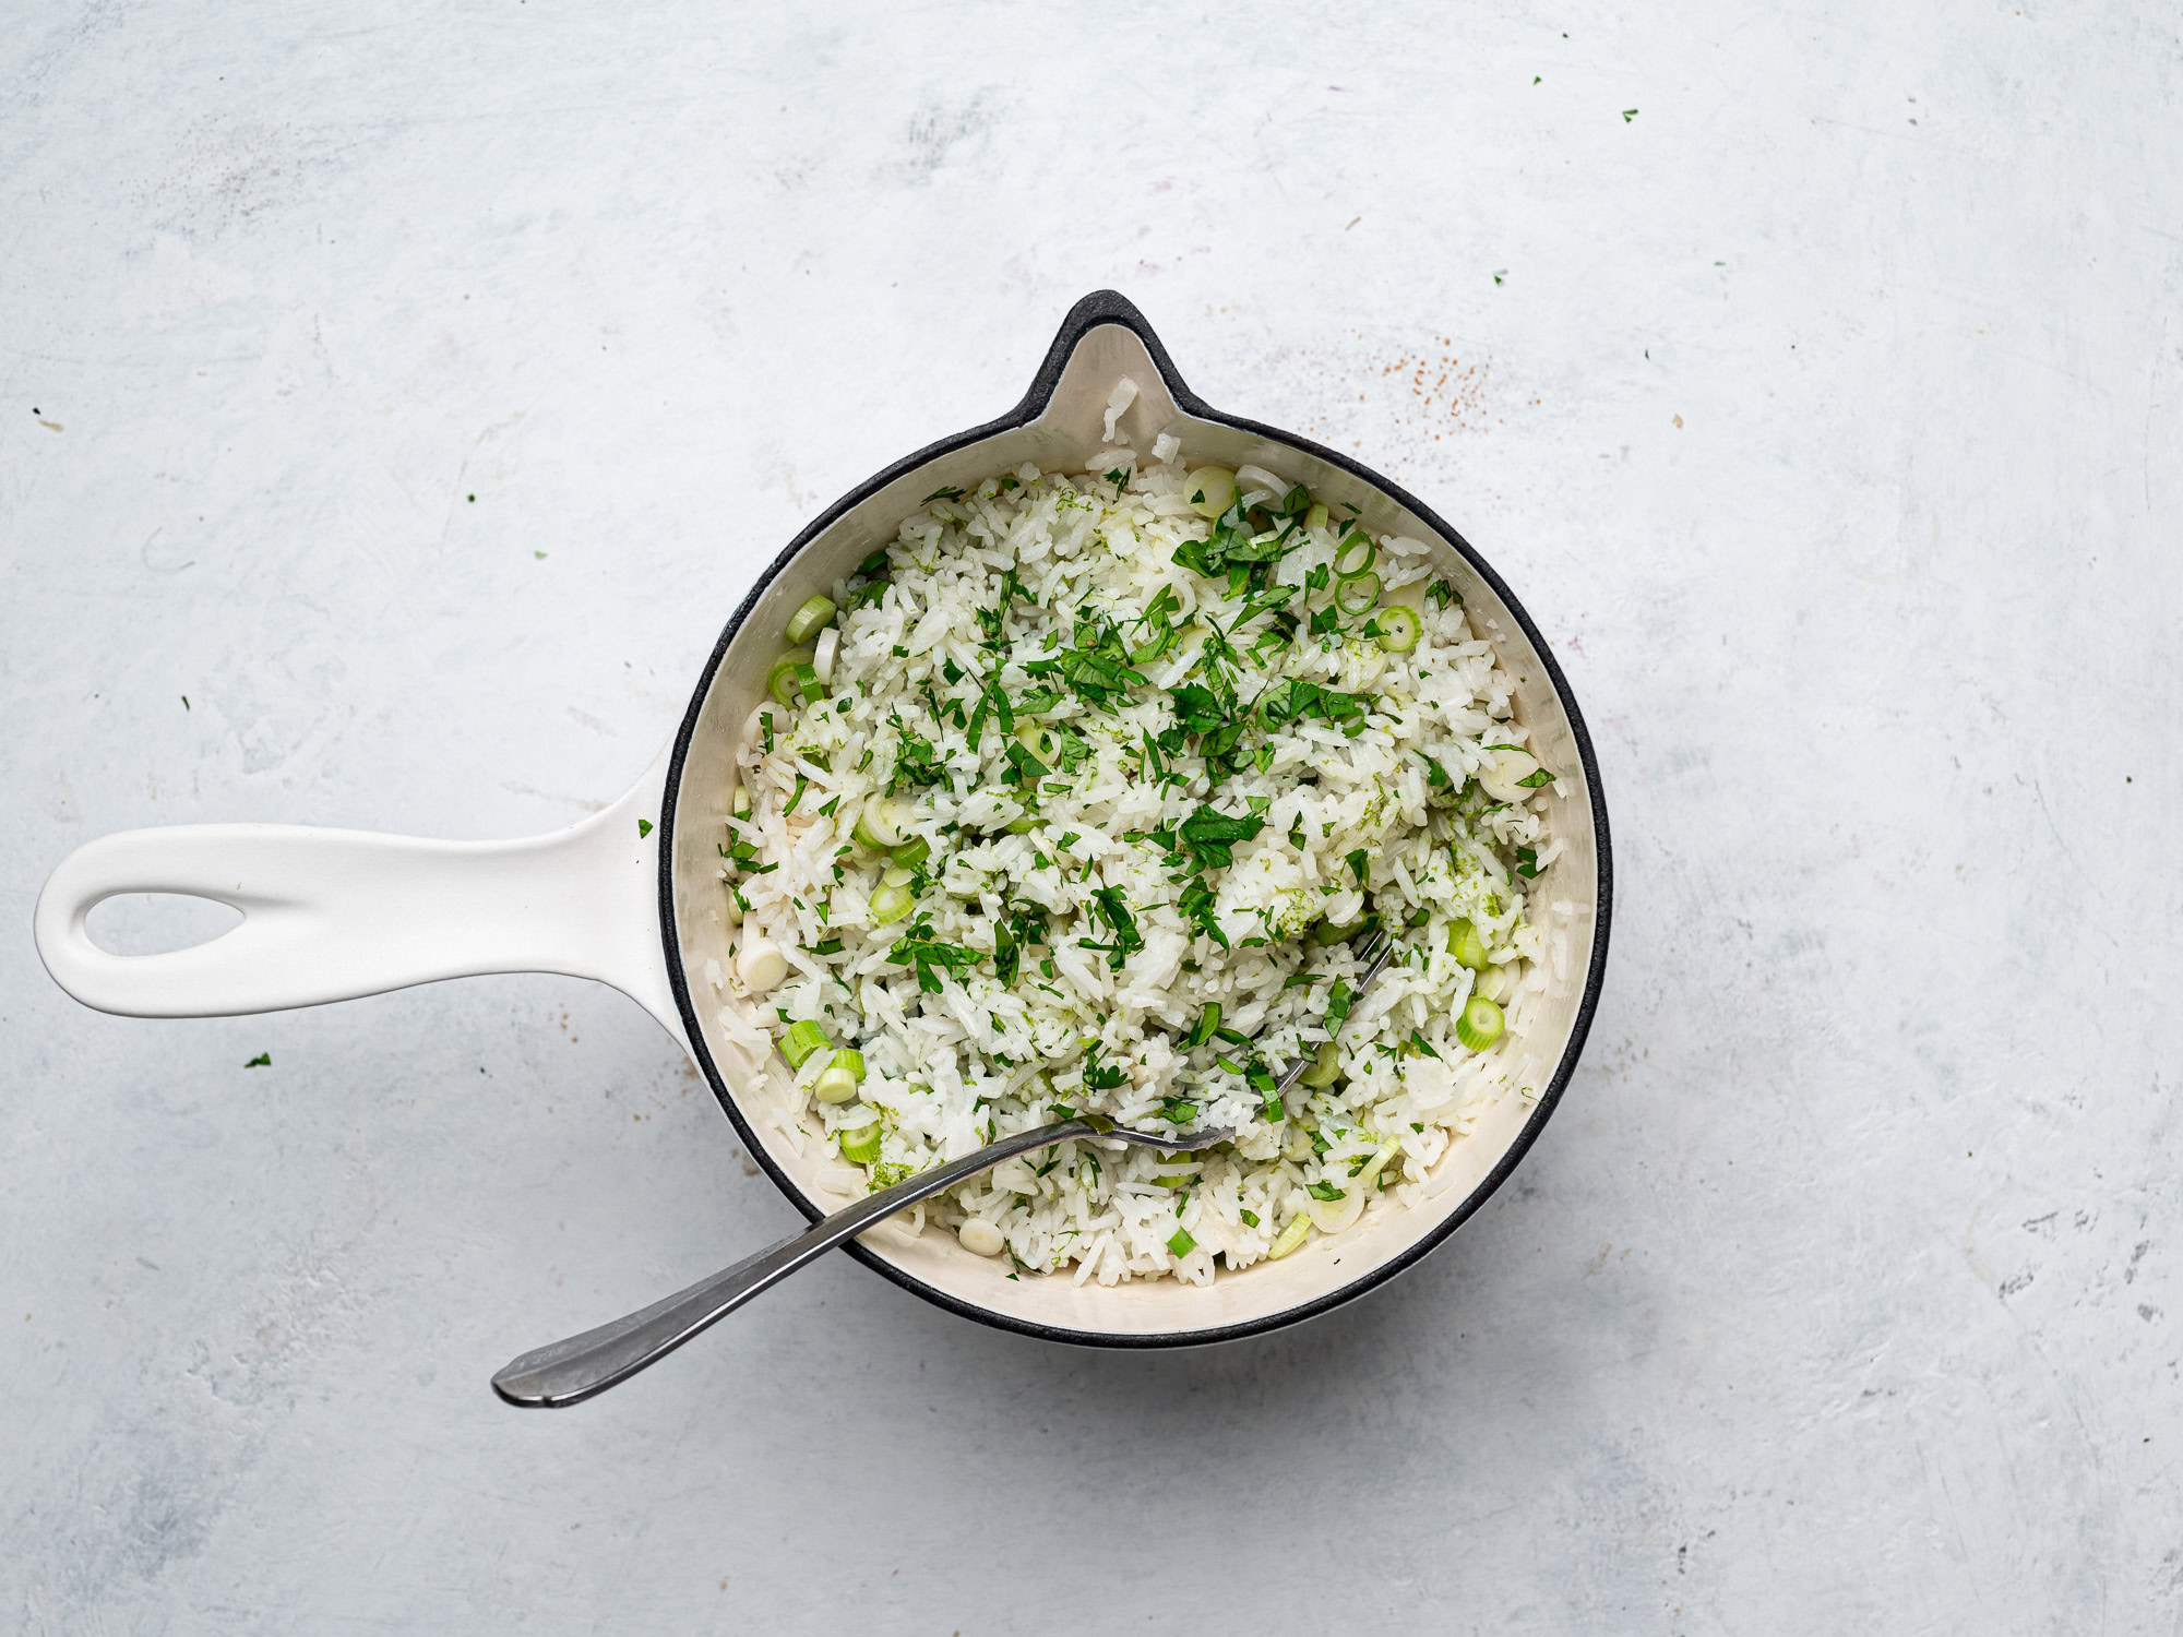
{"type": "MultiPolygon", "coordinates": [[[[1244,467],[1244,502],[1262,485],[1244,467]]],[[[758,1048],[753,1061],[801,1019],[862,1052],[854,1094],[840,1074],[827,1087],[849,1100],[814,1096],[832,1050],[771,1087],[792,1142],[823,1137],[840,1181],[880,1187],[1065,1118],[1057,1109],[1240,1133],[1194,1157],[1063,1144],[908,1218],[985,1255],[1004,1248],[1002,1272],[1207,1283],[1220,1264],[1246,1268],[1308,1231],[1415,1205],[1450,1144],[1508,1091],[1500,1061],[1546,982],[1526,886],[1559,851],[1543,821],[1552,775],[1522,749],[1495,749],[1528,738],[1511,720],[1511,679],[1428,548],[1373,541],[1377,609],[1401,602],[1419,622],[1417,646],[1388,653],[1371,635],[1377,613],[1325,613],[1345,585],[1351,598],[1364,589],[1329,583],[1338,552],[1345,570],[1364,557],[1362,530],[1343,509],[1281,517],[1284,498],[1268,495],[1271,526],[1253,528],[1260,511],[1225,539],[1284,548],[1262,578],[1292,600],[1238,626],[1246,600],[1225,596],[1229,578],[1177,563],[1179,548],[1188,557],[1214,535],[1192,504],[1205,487],[1161,437],[1142,465],[1109,447],[1087,474],[1024,465],[930,500],[904,519],[884,567],[812,587],[843,609],[816,655],[832,661],[825,696],[760,707],[740,746],[751,814],[729,823],[723,847],[740,917],[738,960],[714,969],[723,1024],[758,1048]],[[1105,622],[1144,655],[1161,609],[1174,635],[1133,661],[1144,681],[1098,698],[1102,672],[1083,655],[1096,657],[1105,622]],[[1284,616],[1299,616],[1292,635],[1262,640],[1284,616]],[[1209,622],[1233,635],[1233,666],[1209,622]],[[1364,709],[1340,720],[1343,705],[1312,709],[1303,690],[1301,716],[1268,720],[1297,703],[1290,681],[1364,709]],[[1172,692],[1190,688],[1205,696],[1172,692]],[[1205,740],[1181,725],[1207,696],[1222,720],[1246,722],[1242,766],[1218,781],[1205,740]],[[1537,786],[1517,784],[1526,775],[1537,786]],[[867,832],[893,840],[893,821],[906,847],[930,847],[908,882],[897,867],[886,886],[888,856],[851,836],[867,808],[867,832]],[[1201,808],[1244,821],[1231,834],[1255,829],[1229,843],[1231,862],[1218,845],[1207,862],[1177,829],[1201,808]],[[906,899],[915,908],[902,915],[906,899]],[[1253,1087],[1246,1072],[1314,1054],[1336,980],[1360,971],[1362,936],[1323,945],[1312,928],[1367,912],[1401,956],[1340,1024],[1340,1078],[1297,1085],[1273,1111],[1264,1074],[1253,1087]],[[1450,952],[1458,919],[1480,934],[1484,971],[1450,952]],[[786,960],[775,984],[749,958],[764,941],[786,960]],[[1002,982],[1009,943],[1015,973],[1002,982]],[[919,949],[934,952],[923,973],[919,949]],[[1474,987],[1506,1011],[1506,1032],[1482,1052],[1456,1037],[1474,987]],[[1227,1035],[1192,1048],[1209,1004],[1227,1035]],[[840,1161],[843,1144],[869,1163],[840,1161]],[[1284,1238],[1299,1218],[1310,1229],[1284,1238]]],[[[1399,613],[1388,629],[1401,631],[1399,613]]],[[[753,1094],[766,1089],[760,1074],[753,1094]]]]}

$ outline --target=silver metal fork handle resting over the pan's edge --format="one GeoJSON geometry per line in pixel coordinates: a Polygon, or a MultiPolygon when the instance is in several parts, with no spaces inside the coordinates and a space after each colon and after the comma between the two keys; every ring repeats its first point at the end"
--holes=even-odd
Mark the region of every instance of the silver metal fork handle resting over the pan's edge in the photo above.
{"type": "Polygon", "coordinates": [[[1098,1128],[1089,1120],[1061,1120],[1037,1131],[1019,1131],[1013,1137],[1002,1137],[974,1155],[963,1155],[963,1159],[884,1187],[814,1222],[803,1233],[792,1233],[773,1248],[744,1257],[709,1279],[699,1279],[688,1290],[677,1290],[651,1307],[640,1307],[627,1318],[616,1318],[611,1325],[535,1347],[522,1358],[509,1360],[493,1375],[493,1393],[526,1410],[561,1410],[570,1403],[583,1403],[609,1386],[627,1382],[646,1364],[666,1358],[692,1336],[727,1318],[751,1297],[771,1290],[806,1262],[814,1262],[873,1222],[882,1222],[921,1198],[943,1194],[963,1179],[991,1170],[1000,1161],[1030,1148],[1046,1148],[1057,1142],[1092,1135],[1098,1135],[1098,1128]]]}

